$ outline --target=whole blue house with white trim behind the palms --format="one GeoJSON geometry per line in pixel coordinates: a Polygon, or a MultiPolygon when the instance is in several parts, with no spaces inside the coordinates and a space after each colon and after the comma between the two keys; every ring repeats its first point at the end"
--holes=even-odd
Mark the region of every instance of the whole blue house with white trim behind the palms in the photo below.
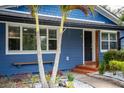
{"type": "MultiPolygon", "coordinates": [[[[51,71],[57,49],[61,12],[58,5],[39,10],[41,49],[45,71],[51,71]]],[[[118,49],[124,27],[118,17],[101,6],[85,16],[80,10],[69,13],[64,25],[59,69],[71,70],[88,62],[100,63],[104,52],[118,49]]],[[[0,74],[38,72],[35,20],[26,6],[0,6],[0,74]]]]}

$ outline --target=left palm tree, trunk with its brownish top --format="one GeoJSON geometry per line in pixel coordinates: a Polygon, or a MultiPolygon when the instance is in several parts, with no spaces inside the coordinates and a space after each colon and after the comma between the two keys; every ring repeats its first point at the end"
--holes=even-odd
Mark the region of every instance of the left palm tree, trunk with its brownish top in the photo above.
{"type": "Polygon", "coordinates": [[[36,22],[36,41],[37,41],[37,60],[38,60],[38,68],[40,74],[40,80],[43,88],[48,88],[48,84],[45,78],[43,59],[42,59],[42,51],[41,51],[41,40],[40,40],[40,29],[39,29],[39,18],[38,18],[38,9],[40,6],[38,5],[29,5],[28,6],[32,17],[35,18],[36,22]]]}

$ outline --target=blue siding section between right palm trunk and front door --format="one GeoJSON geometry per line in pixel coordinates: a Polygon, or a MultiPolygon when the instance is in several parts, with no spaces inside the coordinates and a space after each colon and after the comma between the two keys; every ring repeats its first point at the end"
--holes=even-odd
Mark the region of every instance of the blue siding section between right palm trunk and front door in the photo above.
{"type": "Polygon", "coordinates": [[[83,63],[82,30],[67,29],[63,34],[62,54],[59,67],[71,69],[83,63]],[[69,60],[66,60],[69,57],[69,60]]]}

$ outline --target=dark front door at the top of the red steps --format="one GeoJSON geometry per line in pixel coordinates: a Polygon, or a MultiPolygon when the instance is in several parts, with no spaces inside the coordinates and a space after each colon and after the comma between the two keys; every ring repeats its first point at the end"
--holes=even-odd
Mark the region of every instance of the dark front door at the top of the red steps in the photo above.
{"type": "Polygon", "coordinates": [[[92,61],[92,32],[84,32],[84,54],[85,61],[92,61]]]}

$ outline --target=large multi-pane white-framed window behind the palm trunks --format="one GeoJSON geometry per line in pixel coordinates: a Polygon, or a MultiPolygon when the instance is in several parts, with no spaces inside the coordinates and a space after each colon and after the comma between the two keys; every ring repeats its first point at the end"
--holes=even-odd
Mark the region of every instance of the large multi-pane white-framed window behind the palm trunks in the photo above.
{"type": "MultiPolygon", "coordinates": [[[[56,52],[57,30],[55,27],[40,27],[43,53],[56,52]]],[[[36,48],[35,25],[6,24],[6,54],[34,54],[36,48]]]]}

